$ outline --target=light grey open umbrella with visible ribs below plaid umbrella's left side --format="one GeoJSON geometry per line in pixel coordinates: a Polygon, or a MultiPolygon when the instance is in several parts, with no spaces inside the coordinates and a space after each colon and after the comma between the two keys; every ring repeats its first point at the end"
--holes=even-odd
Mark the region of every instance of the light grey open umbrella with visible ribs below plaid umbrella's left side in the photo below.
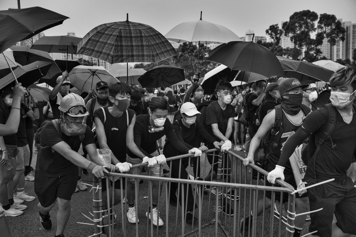
{"type": "Polygon", "coordinates": [[[105,81],[108,84],[111,82],[119,82],[102,66],[79,65],[70,71],[68,77],[70,79],[70,83],[80,92],[88,92],[90,89],[95,91],[95,85],[99,81],[105,81]]]}

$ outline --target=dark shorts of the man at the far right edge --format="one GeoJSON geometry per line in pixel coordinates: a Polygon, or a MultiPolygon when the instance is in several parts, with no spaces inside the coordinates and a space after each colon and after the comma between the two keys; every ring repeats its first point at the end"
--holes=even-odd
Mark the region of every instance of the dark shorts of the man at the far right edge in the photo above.
{"type": "MultiPolygon", "coordinates": [[[[308,184],[314,180],[305,180],[308,184]]],[[[318,182],[324,181],[318,179],[318,182]]],[[[352,179],[347,177],[343,181],[332,181],[308,189],[311,222],[309,232],[318,231],[315,235],[331,237],[331,226],[334,214],[336,225],[344,233],[356,235],[356,188],[352,179]]]]}

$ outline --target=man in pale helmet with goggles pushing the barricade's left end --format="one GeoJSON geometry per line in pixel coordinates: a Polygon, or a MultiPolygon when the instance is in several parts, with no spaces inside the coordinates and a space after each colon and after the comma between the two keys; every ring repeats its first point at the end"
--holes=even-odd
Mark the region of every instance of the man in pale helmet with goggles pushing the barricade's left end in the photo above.
{"type": "MultiPolygon", "coordinates": [[[[77,186],[77,166],[87,168],[98,178],[110,174],[104,167],[95,164],[100,161],[93,132],[84,124],[84,116],[88,115],[84,99],[69,93],[63,97],[59,110],[61,119],[52,120],[40,133],[41,149],[37,155],[35,193],[39,200],[37,208],[40,221],[46,230],[52,228],[49,211],[57,200],[56,236],[63,237],[70,215],[70,199],[77,186]],[[77,153],[81,143],[95,163],[77,153]]],[[[115,166],[109,166],[109,169],[116,171],[115,166]]]]}

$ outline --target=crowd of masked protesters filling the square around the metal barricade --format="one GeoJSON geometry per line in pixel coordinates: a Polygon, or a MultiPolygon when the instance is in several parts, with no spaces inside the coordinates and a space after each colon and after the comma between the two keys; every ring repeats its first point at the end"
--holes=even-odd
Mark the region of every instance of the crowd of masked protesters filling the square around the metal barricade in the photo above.
{"type": "MultiPolygon", "coordinates": [[[[58,204],[56,236],[61,237],[70,216],[71,197],[87,189],[81,177],[88,175],[88,171],[98,178],[108,178],[109,171],[140,175],[146,170],[151,176],[162,176],[166,158],[190,153],[191,158],[168,162],[170,177],[189,179],[186,168],[191,165],[194,179],[211,181],[216,179],[218,160],[213,152],[206,153],[211,170],[206,177],[200,177],[200,156],[215,148],[223,152],[245,152],[245,166],[263,157],[267,161],[264,168],[269,172],[266,185],[282,179],[297,190],[334,178],[332,182],[296,194],[295,212],[303,215],[295,217],[293,236],[300,236],[305,220],[311,220],[309,232],[317,231],[314,236],[356,234],[355,68],[345,66],[336,71],[328,83],[330,89],[318,88],[314,81],[295,78],[275,82],[260,80],[238,87],[220,80],[215,92],[205,95],[200,85],[202,78],[196,74],[194,81],[197,83],[179,91],[171,88],[132,90],[126,83],[108,85],[101,81],[83,98],[70,93],[70,78],[65,71],[58,77],[45,104],[36,98],[30,99],[21,84],[1,88],[0,227],[5,236],[11,234],[4,216],[12,218],[23,214],[27,208],[24,202],[36,199],[26,194],[25,181],[35,184],[38,214],[46,230],[52,228],[51,210],[58,204]],[[323,136],[330,123],[333,129],[325,139],[323,136]],[[164,145],[163,137],[166,138],[164,145]],[[323,142],[319,142],[321,138],[323,142]],[[35,150],[32,150],[34,142],[35,150]],[[288,158],[299,145],[303,146],[302,158],[308,169],[304,179],[297,183],[288,158]],[[310,152],[313,146],[316,146],[314,153],[310,152]],[[102,166],[97,148],[111,150],[108,167],[102,166]],[[31,167],[34,152],[38,152],[37,162],[31,167]],[[148,165],[132,168],[140,163],[148,165]],[[312,212],[310,216],[306,214],[309,209],[320,208],[323,210],[312,212]],[[333,223],[334,214],[336,223],[333,223]]],[[[223,178],[231,182],[231,159],[226,157],[229,161],[224,162],[223,178]]],[[[125,198],[128,221],[139,222],[135,179],[128,179],[127,187],[121,187],[119,179],[110,178],[111,185],[113,182],[115,199],[111,206],[125,198]],[[121,190],[124,190],[123,196],[121,190]]],[[[169,203],[173,206],[179,203],[186,210],[186,221],[192,223],[197,220],[193,215],[197,204],[192,186],[184,184],[177,196],[178,187],[178,183],[171,183],[169,203]]],[[[105,190],[103,185],[103,203],[111,200],[105,190]]],[[[164,225],[157,210],[161,191],[162,182],[153,181],[152,205],[146,216],[155,226],[164,225]]],[[[239,198],[232,189],[227,190],[226,195],[231,200],[239,198]]],[[[277,194],[275,198],[281,199],[277,194]]],[[[272,205],[271,200],[271,192],[266,192],[266,204],[263,205],[263,199],[258,201],[257,215],[264,211],[263,206],[272,205]]],[[[221,208],[224,214],[235,214],[232,207],[224,205],[221,208]]],[[[277,212],[279,205],[283,203],[274,204],[277,212]]],[[[248,225],[250,218],[251,215],[242,219],[241,226],[248,225]]],[[[114,215],[112,221],[115,221],[114,215]]],[[[249,235],[247,229],[241,228],[245,236],[249,235]]]]}

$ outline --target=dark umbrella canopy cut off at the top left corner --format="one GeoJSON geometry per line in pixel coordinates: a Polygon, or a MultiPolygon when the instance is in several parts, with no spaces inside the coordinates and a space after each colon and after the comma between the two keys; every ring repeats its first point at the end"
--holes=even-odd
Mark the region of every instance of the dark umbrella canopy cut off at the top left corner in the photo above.
{"type": "Polygon", "coordinates": [[[0,53],[68,18],[42,7],[0,11],[0,53]]]}

